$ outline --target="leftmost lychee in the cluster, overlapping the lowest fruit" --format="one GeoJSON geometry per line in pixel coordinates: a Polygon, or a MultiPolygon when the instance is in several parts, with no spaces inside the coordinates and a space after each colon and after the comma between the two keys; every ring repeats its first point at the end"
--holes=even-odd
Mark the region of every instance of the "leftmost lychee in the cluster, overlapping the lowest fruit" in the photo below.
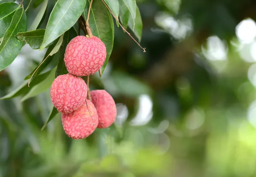
{"type": "Polygon", "coordinates": [[[80,77],[71,74],[59,75],[51,86],[52,104],[61,113],[71,113],[84,104],[87,85],[80,77]]]}

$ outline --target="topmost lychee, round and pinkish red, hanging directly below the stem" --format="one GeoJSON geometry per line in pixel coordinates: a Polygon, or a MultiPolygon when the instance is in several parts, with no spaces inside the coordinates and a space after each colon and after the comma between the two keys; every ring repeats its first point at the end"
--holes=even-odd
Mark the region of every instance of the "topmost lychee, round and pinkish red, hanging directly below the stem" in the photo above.
{"type": "Polygon", "coordinates": [[[64,62],[70,74],[86,76],[96,73],[106,56],[106,46],[99,38],[76,36],[67,44],[64,62]]]}

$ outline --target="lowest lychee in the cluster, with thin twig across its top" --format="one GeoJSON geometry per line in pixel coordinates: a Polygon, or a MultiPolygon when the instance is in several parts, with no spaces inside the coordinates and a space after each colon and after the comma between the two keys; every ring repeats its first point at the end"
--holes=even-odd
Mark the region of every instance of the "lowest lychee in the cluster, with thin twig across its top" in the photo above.
{"type": "Polygon", "coordinates": [[[99,120],[96,108],[87,99],[78,110],[69,114],[62,113],[61,121],[65,133],[70,138],[83,139],[95,131],[99,120]]]}

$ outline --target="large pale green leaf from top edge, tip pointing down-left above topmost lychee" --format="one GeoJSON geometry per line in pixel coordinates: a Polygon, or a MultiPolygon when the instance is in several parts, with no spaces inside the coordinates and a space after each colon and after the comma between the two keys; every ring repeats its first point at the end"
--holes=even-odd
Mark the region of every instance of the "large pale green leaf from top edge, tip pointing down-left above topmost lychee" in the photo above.
{"type": "Polygon", "coordinates": [[[49,17],[40,50],[70,29],[84,10],[86,0],[58,0],[49,17]]]}

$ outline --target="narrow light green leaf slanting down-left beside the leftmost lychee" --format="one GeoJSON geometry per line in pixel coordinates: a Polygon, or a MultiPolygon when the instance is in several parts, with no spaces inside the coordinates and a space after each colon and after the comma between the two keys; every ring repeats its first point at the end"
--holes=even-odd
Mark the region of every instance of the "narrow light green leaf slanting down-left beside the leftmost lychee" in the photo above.
{"type": "Polygon", "coordinates": [[[21,99],[21,102],[24,102],[25,100],[37,96],[40,93],[43,93],[46,91],[49,87],[51,87],[51,84],[53,80],[55,79],[55,71],[56,67],[52,69],[44,81],[40,82],[39,84],[35,85],[31,90],[29,90],[29,93],[27,93],[23,98],[21,99]]]}

